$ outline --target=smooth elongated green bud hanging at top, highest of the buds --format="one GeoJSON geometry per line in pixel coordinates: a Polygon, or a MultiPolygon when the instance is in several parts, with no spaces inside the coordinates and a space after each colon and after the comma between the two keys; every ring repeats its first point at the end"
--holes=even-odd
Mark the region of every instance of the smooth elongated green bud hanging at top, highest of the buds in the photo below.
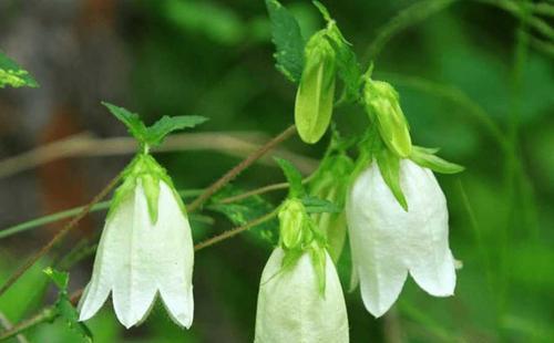
{"type": "Polygon", "coordinates": [[[296,93],[295,122],[300,138],[314,144],[329,126],[335,97],[337,63],[326,30],[311,37],[305,54],[306,64],[296,93]]]}

